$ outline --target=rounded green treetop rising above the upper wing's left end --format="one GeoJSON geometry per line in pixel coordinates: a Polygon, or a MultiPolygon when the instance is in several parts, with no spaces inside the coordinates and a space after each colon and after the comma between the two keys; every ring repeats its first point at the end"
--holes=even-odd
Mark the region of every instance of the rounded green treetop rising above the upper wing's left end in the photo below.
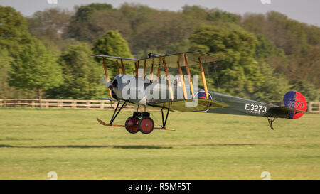
{"type": "MultiPolygon", "coordinates": [[[[95,42],[92,52],[98,55],[112,55],[121,56],[124,58],[132,58],[127,41],[122,38],[118,31],[107,31],[105,36],[102,36],[95,42]]],[[[101,58],[95,58],[95,60],[102,64],[101,58]]],[[[107,66],[110,77],[118,74],[115,63],[109,62],[107,63],[107,66]]],[[[130,71],[133,68],[131,66],[128,67],[128,65],[126,66],[130,71]]]]}

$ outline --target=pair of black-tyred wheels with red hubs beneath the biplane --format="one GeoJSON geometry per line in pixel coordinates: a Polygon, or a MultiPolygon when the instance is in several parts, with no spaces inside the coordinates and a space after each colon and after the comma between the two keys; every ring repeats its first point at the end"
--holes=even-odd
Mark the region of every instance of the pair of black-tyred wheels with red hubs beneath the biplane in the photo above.
{"type": "Polygon", "coordinates": [[[134,112],[134,116],[127,119],[125,127],[131,134],[138,131],[141,131],[142,134],[150,134],[154,130],[154,120],[150,118],[149,112],[134,112]]]}

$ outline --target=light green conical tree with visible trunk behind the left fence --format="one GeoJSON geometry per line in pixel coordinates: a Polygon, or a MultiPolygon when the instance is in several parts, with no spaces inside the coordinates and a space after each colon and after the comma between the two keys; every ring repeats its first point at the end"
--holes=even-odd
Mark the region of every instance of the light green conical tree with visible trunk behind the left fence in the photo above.
{"type": "Polygon", "coordinates": [[[39,99],[43,90],[57,87],[63,81],[56,57],[41,41],[21,45],[22,51],[11,63],[9,84],[16,88],[37,90],[39,99]]]}

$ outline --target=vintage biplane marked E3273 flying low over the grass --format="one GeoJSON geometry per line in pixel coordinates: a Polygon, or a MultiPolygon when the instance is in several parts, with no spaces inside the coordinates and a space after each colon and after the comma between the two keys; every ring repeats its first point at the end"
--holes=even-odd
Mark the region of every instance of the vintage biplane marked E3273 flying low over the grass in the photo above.
{"type": "Polygon", "coordinates": [[[102,58],[108,89],[112,97],[110,100],[117,101],[117,107],[114,109],[109,124],[98,118],[97,121],[105,126],[125,127],[132,134],[138,131],[149,134],[154,129],[172,130],[166,128],[169,111],[267,117],[271,129],[273,129],[272,123],[277,118],[297,119],[306,112],[306,99],[295,91],[289,91],[284,95],[284,107],[208,91],[202,64],[213,63],[218,58],[205,53],[184,52],[171,55],[149,53],[148,58],[140,59],[109,55],[92,56],[102,58]],[[108,76],[105,58],[117,63],[118,75],[112,82],[108,76]],[[124,64],[132,65],[135,75],[127,75],[124,64]],[[198,65],[200,68],[203,83],[201,89],[193,82],[194,75],[191,77],[191,65],[198,65]],[[146,75],[147,69],[149,69],[149,75],[146,75]],[[154,76],[154,69],[156,76],[154,76]],[[174,79],[170,77],[169,70],[178,72],[174,79]],[[184,76],[183,70],[186,71],[184,76]],[[161,72],[165,74],[162,73],[161,76],[161,72]],[[113,125],[114,119],[128,103],[137,104],[137,111],[133,112],[132,117],[129,117],[124,125],[113,125]],[[144,112],[139,112],[139,106],[144,107],[144,112]],[[162,125],[160,127],[154,126],[154,121],[150,113],[146,112],[146,107],[161,109],[162,125]],[[166,116],[164,116],[164,109],[166,109],[166,116]]]}

